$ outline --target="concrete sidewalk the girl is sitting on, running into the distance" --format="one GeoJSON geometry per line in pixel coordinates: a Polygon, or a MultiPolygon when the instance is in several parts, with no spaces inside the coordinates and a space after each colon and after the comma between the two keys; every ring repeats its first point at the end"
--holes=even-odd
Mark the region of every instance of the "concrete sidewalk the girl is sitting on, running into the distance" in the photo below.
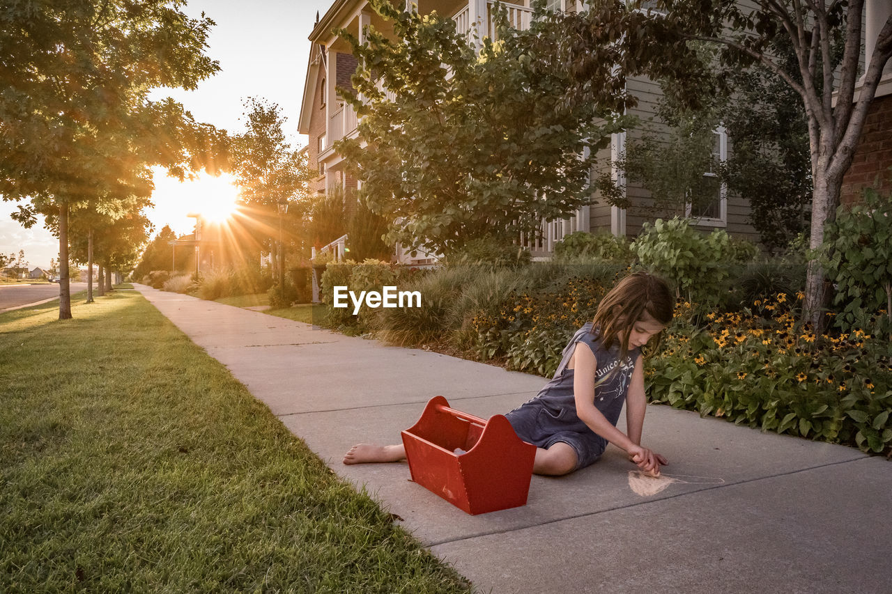
{"type": "Polygon", "coordinates": [[[480,590],[892,592],[882,458],[652,406],[645,442],[680,482],[640,496],[611,446],[578,473],[533,476],[524,507],[468,516],[411,483],[405,463],[344,466],[343,453],[399,442],[437,394],[486,418],[528,400],[541,377],[135,286],[480,590]]]}

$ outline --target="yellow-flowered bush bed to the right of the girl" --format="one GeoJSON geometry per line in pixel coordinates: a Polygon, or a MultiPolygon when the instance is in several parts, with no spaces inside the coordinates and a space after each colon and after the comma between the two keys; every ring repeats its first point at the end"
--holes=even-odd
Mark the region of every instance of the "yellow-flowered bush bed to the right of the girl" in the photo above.
{"type": "Polygon", "coordinates": [[[801,299],[778,293],[724,314],[680,303],[645,372],[651,400],[764,431],[888,449],[888,340],[861,330],[816,335],[797,326],[801,299]]]}

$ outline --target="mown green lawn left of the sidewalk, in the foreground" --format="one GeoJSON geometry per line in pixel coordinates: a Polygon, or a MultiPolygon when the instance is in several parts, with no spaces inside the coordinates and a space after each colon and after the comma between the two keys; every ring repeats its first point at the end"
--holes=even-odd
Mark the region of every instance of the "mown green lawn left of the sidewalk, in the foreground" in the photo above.
{"type": "Polygon", "coordinates": [[[453,592],[141,295],[0,314],[0,591],[453,592]]]}

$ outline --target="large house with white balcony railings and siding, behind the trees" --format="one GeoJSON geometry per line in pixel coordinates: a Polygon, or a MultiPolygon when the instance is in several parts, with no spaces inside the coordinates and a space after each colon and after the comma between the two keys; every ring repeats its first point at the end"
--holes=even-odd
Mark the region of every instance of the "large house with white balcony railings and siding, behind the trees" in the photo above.
{"type": "MultiPolygon", "coordinates": [[[[400,0],[401,1],[401,0],[400,0]]],[[[529,27],[533,9],[532,0],[516,0],[516,4],[505,4],[508,9],[508,20],[519,29],[529,27]]],[[[436,11],[449,15],[457,23],[458,30],[479,27],[485,28],[483,35],[491,35],[491,0],[422,0],[416,3],[417,10],[422,13],[436,11]],[[476,23],[480,23],[479,25],[476,23]]],[[[582,10],[582,2],[575,0],[549,0],[550,9],[567,12],[582,10]]],[[[409,3],[407,2],[407,5],[409,3]]],[[[357,115],[351,106],[337,95],[335,87],[349,87],[350,78],[356,70],[357,61],[351,54],[351,46],[333,32],[333,29],[345,29],[361,43],[363,29],[372,25],[379,31],[387,31],[388,25],[369,6],[366,0],[336,0],[316,23],[310,34],[310,64],[307,70],[303,91],[301,114],[298,129],[301,134],[309,136],[310,168],[317,171],[318,176],[312,182],[312,190],[326,193],[334,186],[343,186],[347,197],[354,197],[359,181],[351,177],[345,163],[333,144],[344,137],[357,135],[357,115]]],[[[479,35],[479,34],[478,34],[479,35]]],[[[469,35],[474,39],[473,35],[469,35]]],[[[637,105],[630,108],[630,115],[640,120],[650,120],[657,109],[657,101],[661,95],[658,84],[648,78],[628,78],[626,88],[637,98],[637,105]]],[[[641,226],[653,216],[648,214],[646,206],[650,200],[647,188],[627,181],[623,172],[616,169],[614,161],[624,153],[626,142],[640,138],[642,130],[630,130],[614,134],[610,145],[600,151],[597,166],[592,177],[605,173],[632,203],[626,210],[610,206],[599,201],[599,195],[593,191],[592,202],[574,212],[568,219],[543,221],[541,236],[529,241],[526,247],[537,259],[547,259],[554,252],[554,245],[565,235],[574,231],[607,232],[613,235],[638,235],[641,226]]],[[[714,131],[714,155],[723,161],[728,154],[728,138],[723,128],[714,131]]],[[[715,177],[715,198],[708,204],[701,205],[696,212],[689,209],[688,215],[694,225],[704,231],[722,228],[729,234],[757,240],[756,229],[748,221],[748,202],[729,194],[718,183],[713,172],[704,171],[705,177],[715,177]]],[[[348,203],[350,201],[348,200],[348,203]]],[[[332,238],[333,240],[335,238],[332,238]]],[[[334,248],[333,248],[334,249],[334,248]]],[[[397,250],[398,261],[415,263],[418,260],[409,258],[409,254],[397,250]]],[[[420,258],[429,259],[429,254],[421,254],[420,258]]]]}

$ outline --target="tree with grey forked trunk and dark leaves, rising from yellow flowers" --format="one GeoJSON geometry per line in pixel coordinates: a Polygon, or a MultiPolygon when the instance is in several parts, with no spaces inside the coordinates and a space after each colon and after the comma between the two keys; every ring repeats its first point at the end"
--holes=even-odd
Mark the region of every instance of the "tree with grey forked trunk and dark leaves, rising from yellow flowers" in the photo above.
{"type": "MultiPolygon", "coordinates": [[[[665,11],[653,16],[658,27],[677,31],[682,39],[720,46],[726,65],[747,68],[759,63],[801,98],[814,182],[810,241],[817,249],[825,225],[835,217],[842,178],[892,57],[892,17],[882,24],[859,81],[864,0],[658,0],[657,4],[665,11]],[[796,55],[792,64],[772,44],[780,36],[789,39],[796,55]],[[856,87],[860,87],[857,103],[856,87]]],[[[821,326],[824,293],[821,265],[811,260],[804,316],[814,326],[821,326]]]]}

